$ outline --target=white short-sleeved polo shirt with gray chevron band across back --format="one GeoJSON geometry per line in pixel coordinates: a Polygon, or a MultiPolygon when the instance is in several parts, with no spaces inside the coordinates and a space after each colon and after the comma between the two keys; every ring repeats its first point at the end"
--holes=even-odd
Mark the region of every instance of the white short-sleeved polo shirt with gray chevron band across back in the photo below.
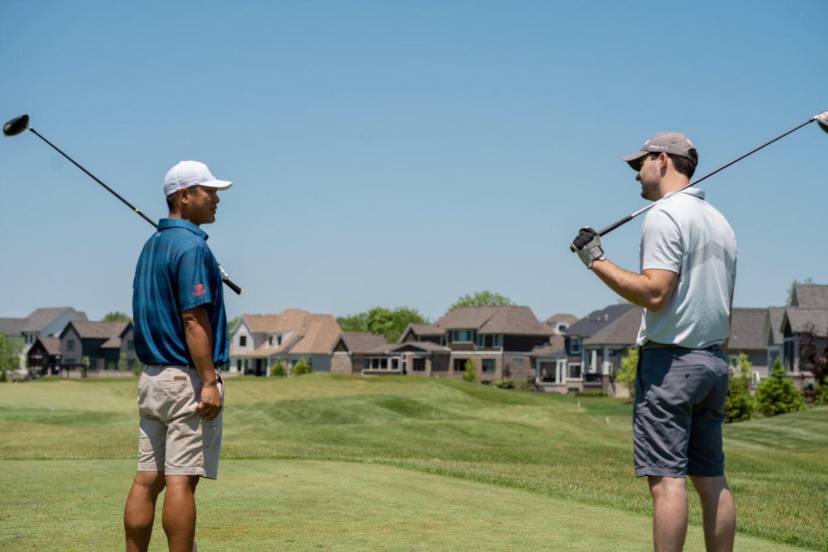
{"type": "Polygon", "coordinates": [[[736,237],[724,216],[688,188],[664,196],[641,227],[641,270],[676,272],[676,289],[658,312],[645,309],[638,344],[705,348],[730,335],[736,283],[736,237]]]}

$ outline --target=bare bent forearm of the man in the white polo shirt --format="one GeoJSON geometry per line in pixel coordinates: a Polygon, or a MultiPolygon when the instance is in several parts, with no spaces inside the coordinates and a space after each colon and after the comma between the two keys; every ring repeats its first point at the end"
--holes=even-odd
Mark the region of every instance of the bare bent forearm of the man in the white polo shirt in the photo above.
{"type": "Polygon", "coordinates": [[[645,270],[643,274],[625,271],[606,259],[594,261],[592,271],[615,293],[652,312],[667,306],[678,279],[673,271],[655,268],[645,270]]]}

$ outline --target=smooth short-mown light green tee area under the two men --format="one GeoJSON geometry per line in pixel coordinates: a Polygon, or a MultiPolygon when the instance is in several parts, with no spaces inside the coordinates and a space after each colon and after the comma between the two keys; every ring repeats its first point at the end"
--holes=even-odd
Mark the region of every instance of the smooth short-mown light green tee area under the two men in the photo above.
{"type": "MultiPolygon", "coordinates": [[[[0,550],[122,550],[134,466],[0,461],[0,550]]],[[[647,516],[380,464],[223,460],[197,497],[202,552],[652,550],[647,516]]],[[[699,528],[685,550],[704,550],[699,528]]],[[[737,536],[736,550],[805,549],[737,536]]]]}

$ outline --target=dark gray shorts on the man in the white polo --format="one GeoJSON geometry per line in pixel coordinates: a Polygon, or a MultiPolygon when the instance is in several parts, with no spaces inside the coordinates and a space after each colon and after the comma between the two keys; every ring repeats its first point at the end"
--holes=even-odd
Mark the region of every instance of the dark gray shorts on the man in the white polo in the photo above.
{"type": "Polygon", "coordinates": [[[633,410],[635,475],[724,475],[729,369],[721,348],[645,348],[633,410]]]}

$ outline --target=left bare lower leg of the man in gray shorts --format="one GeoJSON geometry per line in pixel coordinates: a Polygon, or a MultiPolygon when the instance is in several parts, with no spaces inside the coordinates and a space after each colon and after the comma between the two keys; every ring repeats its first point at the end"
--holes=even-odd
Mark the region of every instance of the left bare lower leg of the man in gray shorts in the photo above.
{"type": "Polygon", "coordinates": [[[656,552],[681,552],[687,535],[687,487],[684,478],[649,476],[652,493],[652,541],[656,552]]]}

